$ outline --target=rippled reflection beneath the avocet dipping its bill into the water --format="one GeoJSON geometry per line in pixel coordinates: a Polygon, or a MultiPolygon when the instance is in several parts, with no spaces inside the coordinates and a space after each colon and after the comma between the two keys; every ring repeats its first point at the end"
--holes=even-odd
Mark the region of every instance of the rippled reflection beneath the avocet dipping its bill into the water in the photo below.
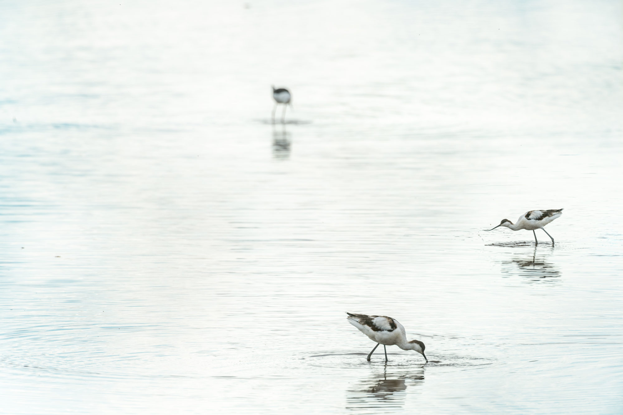
{"type": "Polygon", "coordinates": [[[404,404],[407,386],[424,381],[424,370],[402,373],[374,373],[354,384],[346,393],[346,409],[397,409],[404,404]]]}

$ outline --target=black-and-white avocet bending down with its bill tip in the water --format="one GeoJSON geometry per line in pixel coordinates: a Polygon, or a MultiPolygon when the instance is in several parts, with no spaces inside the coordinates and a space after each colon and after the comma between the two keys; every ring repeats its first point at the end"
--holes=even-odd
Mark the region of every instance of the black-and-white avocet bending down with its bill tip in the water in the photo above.
{"type": "Polygon", "coordinates": [[[386,346],[396,345],[402,350],[415,350],[424,356],[424,360],[428,363],[426,355],[424,355],[424,343],[419,340],[407,340],[407,333],[404,331],[402,324],[397,322],[391,317],[386,315],[365,315],[365,314],[348,314],[348,322],[354,327],[358,328],[360,332],[368,336],[370,340],[376,341],[376,346],[372,349],[368,355],[368,361],[370,356],[374,353],[374,350],[379,345],[383,345],[385,350],[385,361],[388,361],[388,350],[386,346]]]}

